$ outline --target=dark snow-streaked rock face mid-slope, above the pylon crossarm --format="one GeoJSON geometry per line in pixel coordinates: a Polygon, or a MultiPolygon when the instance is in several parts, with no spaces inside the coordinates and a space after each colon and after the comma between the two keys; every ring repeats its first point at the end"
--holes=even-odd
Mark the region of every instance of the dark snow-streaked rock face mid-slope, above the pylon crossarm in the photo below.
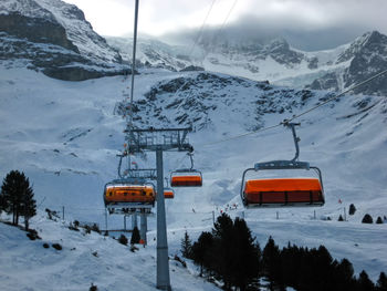
{"type": "MultiPolygon", "coordinates": [[[[220,126],[212,119],[213,114],[217,114],[224,122],[230,122],[234,116],[237,119],[231,123],[242,123],[250,131],[263,126],[264,114],[289,114],[308,104],[314,97],[315,93],[308,90],[296,91],[275,87],[266,82],[191,72],[151,86],[143,98],[135,102],[133,112],[135,125],[140,128],[150,125],[195,125],[198,131],[212,128],[220,126]],[[236,114],[236,108],[240,110],[240,115],[236,114]],[[240,116],[243,116],[242,122],[240,116]]],[[[118,103],[116,108],[118,114],[128,114],[125,102],[118,103]]]]}

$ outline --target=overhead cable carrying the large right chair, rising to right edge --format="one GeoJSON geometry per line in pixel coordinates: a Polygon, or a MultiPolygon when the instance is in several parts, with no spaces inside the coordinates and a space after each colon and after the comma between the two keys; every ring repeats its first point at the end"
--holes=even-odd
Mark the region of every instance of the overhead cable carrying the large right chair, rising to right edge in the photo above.
{"type": "Polygon", "coordinates": [[[323,106],[323,105],[325,105],[325,104],[327,104],[327,103],[330,103],[330,102],[332,102],[332,101],[334,101],[336,98],[342,97],[344,94],[346,94],[346,93],[348,93],[348,92],[351,92],[351,91],[353,91],[353,90],[355,90],[355,89],[357,89],[357,87],[359,87],[359,86],[362,86],[362,85],[364,85],[366,83],[369,83],[370,81],[373,81],[373,80],[375,80],[375,79],[377,79],[377,77],[379,77],[379,76],[381,76],[381,75],[384,75],[386,73],[387,73],[387,70],[385,70],[385,71],[383,71],[383,72],[380,72],[380,73],[378,73],[378,74],[376,74],[376,75],[374,75],[374,76],[372,76],[372,77],[369,77],[369,79],[367,79],[367,80],[365,80],[365,81],[363,81],[363,82],[360,82],[360,83],[358,83],[358,84],[356,84],[356,85],[354,85],[354,86],[343,91],[338,95],[335,95],[335,96],[333,96],[331,98],[327,98],[326,101],[317,104],[316,106],[314,106],[314,107],[312,107],[312,108],[310,108],[307,111],[304,111],[304,112],[302,112],[300,114],[293,115],[291,118],[284,119],[282,122],[280,122],[279,124],[271,125],[271,126],[268,126],[268,127],[263,127],[263,128],[260,128],[260,129],[257,129],[257,131],[252,131],[252,132],[247,132],[247,133],[239,134],[239,135],[236,135],[236,136],[231,136],[229,138],[220,139],[220,141],[217,141],[217,142],[202,144],[200,146],[210,146],[210,145],[215,145],[215,144],[220,144],[220,143],[229,142],[229,141],[232,141],[232,139],[238,139],[238,138],[241,138],[241,137],[244,137],[244,136],[248,136],[248,135],[252,135],[252,134],[265,132],[265,131],[269,131],[269,129],[273,129],[273,128],[279,127],[281,125],[289,124],[290,122],[292,122],[292,121],[294,121],[294,119],[296,119],[296,118],[299,118],[299,117],[301,117],[301,116],[303,116],[303,115],[305,115],[305,114],[307,114],[307,113],[310,113],[310,112],[312,112],[312,111],[314,111],[314,110],[316,110],[316,108],[318,108],[318,107],[321,107],[321,106],[323,106]]]}

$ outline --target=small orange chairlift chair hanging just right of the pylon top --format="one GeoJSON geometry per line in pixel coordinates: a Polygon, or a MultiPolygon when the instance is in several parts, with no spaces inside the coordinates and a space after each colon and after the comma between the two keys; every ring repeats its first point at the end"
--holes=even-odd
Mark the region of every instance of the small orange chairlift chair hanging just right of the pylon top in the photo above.
{"type": "Polygon", "coordinates": [[[201,187],[202,175],[200,170],[194,169],[192,153],[187,154],[191,160],[190,168],[176,169],[170,174],[171,187],[201,187]]]}

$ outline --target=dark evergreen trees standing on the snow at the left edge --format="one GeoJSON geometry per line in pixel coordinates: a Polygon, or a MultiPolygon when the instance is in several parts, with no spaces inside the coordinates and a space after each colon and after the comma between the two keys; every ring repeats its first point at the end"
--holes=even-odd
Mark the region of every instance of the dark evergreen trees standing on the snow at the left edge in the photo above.
{"type": "Polygon", "coordinates": [[[36,201],[29,178],[24,173],[11,170],[3,179],[0,194],[0,212],[12,214],[12,224],[19,225],[19,218],[24,217],[25,230],[29,220],[36,215],[36,201]]]}

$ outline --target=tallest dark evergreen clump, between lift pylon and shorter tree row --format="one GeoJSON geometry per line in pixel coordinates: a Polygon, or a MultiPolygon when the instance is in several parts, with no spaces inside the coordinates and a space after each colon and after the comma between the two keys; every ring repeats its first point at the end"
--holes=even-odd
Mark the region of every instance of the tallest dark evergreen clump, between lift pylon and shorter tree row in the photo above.
{"type": "Polygon", "coordinates": [[[259,274],[261,249],[245,221],[223,214],[211,232],[202,232],[192,245],[191,258],[205,272],[221,279],[224,289],[245,290],[259,274]]]}

